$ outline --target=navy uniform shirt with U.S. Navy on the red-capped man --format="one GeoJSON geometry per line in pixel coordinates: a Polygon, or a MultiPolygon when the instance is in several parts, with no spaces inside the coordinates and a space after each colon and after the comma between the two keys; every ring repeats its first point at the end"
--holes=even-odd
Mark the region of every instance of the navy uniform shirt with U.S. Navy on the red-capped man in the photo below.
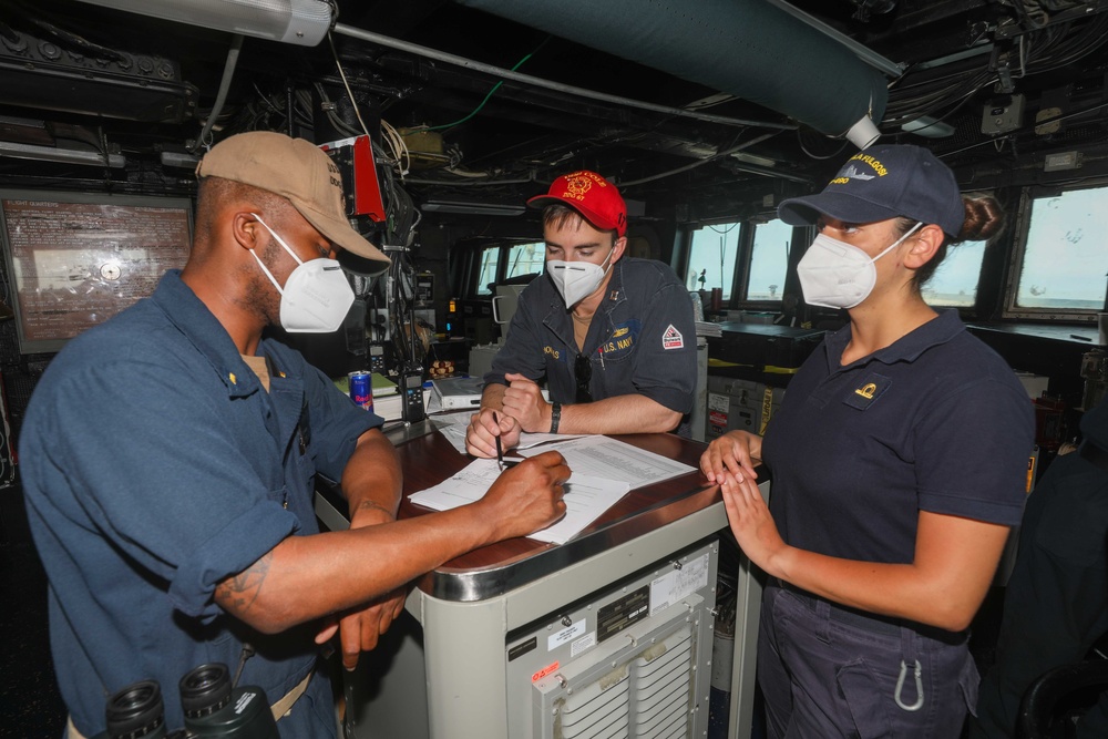
{"type": "Polygon", "coordinates": [[[506,384],[505,372],[536,382],[545,377],[551,400],[572,403],[578,353],[592,365],[593,400],[640,394],[679,413],[693,409],[693,300],[674,270],[660,261],[627,257],[612,267],[607,294],[581,352],[565,301],[545,273],[536,277],[520,295],[507,339],[484,380],[506,384]]]}

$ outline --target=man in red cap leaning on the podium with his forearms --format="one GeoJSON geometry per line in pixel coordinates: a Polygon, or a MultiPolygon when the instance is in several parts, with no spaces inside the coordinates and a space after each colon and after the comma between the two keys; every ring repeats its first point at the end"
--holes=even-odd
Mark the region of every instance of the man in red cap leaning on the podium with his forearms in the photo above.
{"type": "Polygon", "coordinates": [[[485,374],[465,443],[496,454],[520,433],[673,431],[693,409],[693,304],[667,265],[624,256],[627,206],[581,171],[527,201],[543,208],[546,275],[531,283],[485,374]],[[545,378],[547,402],[538,382],[545,378]]]}

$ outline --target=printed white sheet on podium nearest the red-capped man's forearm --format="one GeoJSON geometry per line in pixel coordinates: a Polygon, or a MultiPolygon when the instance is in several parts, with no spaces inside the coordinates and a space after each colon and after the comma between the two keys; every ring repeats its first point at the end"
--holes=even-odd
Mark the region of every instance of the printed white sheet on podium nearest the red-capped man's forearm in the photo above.
{"type": "Polygon", "coordinates": [[[574,476],[583,474],[619,480],[628,483],[632,490],[696,472],[695,466],[602,435],[579,437],[542,449],[524,450],[520,455],[534,456],[551,450],[562,452],[574,476]]]}

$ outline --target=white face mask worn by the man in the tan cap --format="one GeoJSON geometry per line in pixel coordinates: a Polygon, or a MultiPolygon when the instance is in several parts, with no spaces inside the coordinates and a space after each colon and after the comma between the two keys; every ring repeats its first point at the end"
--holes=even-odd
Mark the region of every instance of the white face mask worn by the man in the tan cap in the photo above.
{"type": "Polygon", "coordinates": [[[285,288],[281,289],[261,258],[250,249],[261,271],[280,294],[281,327],[290,333],[328,333],[337,330],[342,326],[342,320],[353,304],[353,290],[342,274],[342,266],[335,259],[324,257],[300,261],[273,228],[266,226],[257,215],[254,217],[273,234],[278,244],[285,247],[289,256],[296,259],[297,267],[285,280],[285,288]]]}

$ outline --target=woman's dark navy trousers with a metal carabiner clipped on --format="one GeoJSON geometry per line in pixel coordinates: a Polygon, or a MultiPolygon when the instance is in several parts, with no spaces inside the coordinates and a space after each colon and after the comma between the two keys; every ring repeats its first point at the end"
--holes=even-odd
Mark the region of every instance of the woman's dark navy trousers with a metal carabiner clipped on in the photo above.
{"type": "Polygon", "coordinates": [[[766,588],[758,684],[770,739],[956,739],[976,704],[964,634],[766,588]]]}

